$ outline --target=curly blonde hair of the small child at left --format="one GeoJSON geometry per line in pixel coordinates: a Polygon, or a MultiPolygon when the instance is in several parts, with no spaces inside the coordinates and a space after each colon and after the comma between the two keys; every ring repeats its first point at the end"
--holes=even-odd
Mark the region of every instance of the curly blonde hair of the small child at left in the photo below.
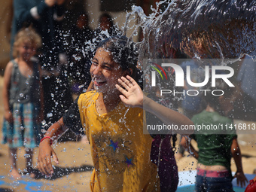
{"type": "Polygon", "coordinates": [[[18,47],[20,46],[20,44],[26,42],[32,44],[32,46],[37,49],[41,47],[41,36],[37,32],[35,32],[35,29],[33,29],[32,26],[20,29],[20,31],[17,32],[14,40],[14,57],[17,57],[19,55],[18,47]]]}

